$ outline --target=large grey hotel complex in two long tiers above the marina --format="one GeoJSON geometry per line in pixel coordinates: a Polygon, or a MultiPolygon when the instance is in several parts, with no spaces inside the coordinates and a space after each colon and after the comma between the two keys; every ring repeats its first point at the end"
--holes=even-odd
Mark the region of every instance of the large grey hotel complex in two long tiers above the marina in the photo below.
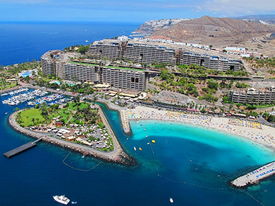
{"type": "Polygon", "coordinates": [[[109,84],[118,89],[145,91],[148,89],[149,75],[155,71],[142,67],[129,67],[126,64],[126,66],[106,65],[103,61],[121,60],[125,63],[130,61],[140,65],[154,63],[199,65],[217,71],[239,71],[242,67],[241,60],[194,54],[175,45],[125,40],[96,41],[89,46],[87,56],[85,61],[78,61],[76,56],[58,50],[46,52],[41,57],[42,72],[45,75],[54,74],[63,80],[109,84]],[[100,62],[94,60],[100,60],[100,62]]]}

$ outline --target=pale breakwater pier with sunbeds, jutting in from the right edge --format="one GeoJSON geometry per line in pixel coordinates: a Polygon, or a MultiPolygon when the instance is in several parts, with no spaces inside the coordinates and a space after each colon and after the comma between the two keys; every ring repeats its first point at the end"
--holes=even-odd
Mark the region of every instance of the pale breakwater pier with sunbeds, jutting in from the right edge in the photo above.
{"type": "Polygon", "coordinates": [[[248,174],[240,176],[234,181],[231,181],[231,184],[235,187],[254,185],[259,183],[260,180],[265,179],[268,176],[272,176],[273,174],[275,174],[275,161],[268,163],[267,165],[263,165],[261,168],[249,172],[248,174]]]}

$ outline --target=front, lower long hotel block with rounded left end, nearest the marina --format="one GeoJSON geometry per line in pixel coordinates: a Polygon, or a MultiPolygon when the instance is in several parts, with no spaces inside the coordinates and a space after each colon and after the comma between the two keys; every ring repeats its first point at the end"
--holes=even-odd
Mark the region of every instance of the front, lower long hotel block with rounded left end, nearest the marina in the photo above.
{"type": "Polygon", "coordinates": [[[41,57],[41,61],[46,62],[42,64],[42,72],[45,75],[55,73],[57,77],[64,80],[109,84],[118,89],[137,91],[148,89],[148,71],[145,69],[101,66],[91,62],[66,62],[65,58],[59,57],[62,54],[56,53],[51,56],[50,53],[47,52],[41,57]]]}

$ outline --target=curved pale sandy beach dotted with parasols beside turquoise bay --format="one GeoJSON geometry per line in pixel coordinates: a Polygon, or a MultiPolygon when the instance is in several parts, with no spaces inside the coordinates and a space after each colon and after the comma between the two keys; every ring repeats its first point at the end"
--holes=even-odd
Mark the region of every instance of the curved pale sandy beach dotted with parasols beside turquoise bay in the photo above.
{"type": "MultiPolygon", "coordinates": [[[[146,106],[137,106],[134,109],[120,111],[120,116],[125,133],[131,132],[129,120],[134,119],[182,122],[184,124],[195,124],[237,135],[239,137],[245,137],[254,141],[256,144],[261,144],[275,150],[275,128],[252,122],[248,119],[212,117],[209,115],[179,113],[174,111],[159,111],[155,108],[146,106]]],[[[245,139],[243,139],[243,141],[245,141],[245,139]]]]}

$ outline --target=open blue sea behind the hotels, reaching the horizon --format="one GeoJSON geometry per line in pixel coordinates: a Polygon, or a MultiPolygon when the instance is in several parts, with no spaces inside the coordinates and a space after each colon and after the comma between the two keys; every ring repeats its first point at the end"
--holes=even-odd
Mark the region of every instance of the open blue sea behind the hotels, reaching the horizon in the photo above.
{"type": "Polygon", "coordinates": [[[138,23],[0,22],[0,65],[40,60],[49,50],[127,36],[139,26],[138,23]]]}

